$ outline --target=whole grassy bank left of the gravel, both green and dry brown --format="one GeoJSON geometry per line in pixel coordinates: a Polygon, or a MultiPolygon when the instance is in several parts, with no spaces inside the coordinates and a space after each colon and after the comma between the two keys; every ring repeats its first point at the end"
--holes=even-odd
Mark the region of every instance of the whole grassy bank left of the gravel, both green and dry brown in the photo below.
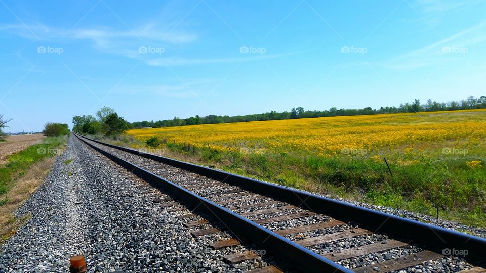
{"type": "Polygon", "coordinates": [[[28,219],[28,215],[17,219],[13,212],[42,184],[66,140],[66,136],[44,138],[41,144],[7,156],[0,165],[0,243],[28,219]]]}

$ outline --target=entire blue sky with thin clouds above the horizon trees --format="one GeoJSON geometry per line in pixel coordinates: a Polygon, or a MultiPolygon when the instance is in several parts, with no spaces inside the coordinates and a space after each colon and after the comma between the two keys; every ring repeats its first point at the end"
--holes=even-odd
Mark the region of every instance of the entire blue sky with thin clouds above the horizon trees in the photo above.
{"type": "Polygon", "coordinates": [[[486,95],[486,2],[0,0],[7,131],[486,95]]]}

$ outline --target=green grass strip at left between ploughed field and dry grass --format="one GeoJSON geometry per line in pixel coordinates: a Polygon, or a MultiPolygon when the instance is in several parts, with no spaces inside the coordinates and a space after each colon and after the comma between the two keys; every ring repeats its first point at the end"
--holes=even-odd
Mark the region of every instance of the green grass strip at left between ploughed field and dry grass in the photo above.
{"type": "Polygon", "coordinates": [[[7,163],[0,166],[0,194],[6,193],[13,181],[27,173],[33,164],[45,158],[53,157],[58,148],[65,143],[65,138],[45,138],[43,143],[29,146],[27,149],[12,154],[6,158],[7,163]]]}

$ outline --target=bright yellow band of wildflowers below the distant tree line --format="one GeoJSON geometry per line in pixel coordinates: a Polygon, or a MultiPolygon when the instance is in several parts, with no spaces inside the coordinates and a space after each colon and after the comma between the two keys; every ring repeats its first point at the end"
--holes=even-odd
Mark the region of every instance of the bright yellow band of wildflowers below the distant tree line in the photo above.
{"type": "MultiPolygon", "coordinates": [[[[374,154],[383,149],[436,146],[444,141],[473,148],[486,138],[486,111],[427,112],[287,119],[129,130],[140,140],[239,152],[307,151],[319,156],[374,154]]],[[[426,147],[424,147],[426,148],[426,147]]],[[[452,147],[451,147],[452,148],[452,147]]]]}

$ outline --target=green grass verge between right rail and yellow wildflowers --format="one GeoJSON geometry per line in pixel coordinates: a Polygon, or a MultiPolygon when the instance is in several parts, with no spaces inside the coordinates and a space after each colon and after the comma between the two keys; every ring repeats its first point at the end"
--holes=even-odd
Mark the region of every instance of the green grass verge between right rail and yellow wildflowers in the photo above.
{"type": "MultiPolygon", "coordinates": [[[[127,136],[104,140],[120,146],[147,147],[127,136]]],[[[468,155],[444,155],[442,147],[466,143],[417,145],[412,151],[374,151],[371,155],[319,157],[303,151],[241,154],[174,143],[159,144],[165,156],[215,165],[236,174],[285,186],[407,209],[486,228],[486,147],[470,147],[468,155]],[[421,149],[426,150],[425,152],[421,149]],[[372,159],[372,155],[379,155],[372,159]],[[386,166],[386,155],[392,175],[386,166]],[[482,161],[471,169],[466,162],[482,161]]]]}

